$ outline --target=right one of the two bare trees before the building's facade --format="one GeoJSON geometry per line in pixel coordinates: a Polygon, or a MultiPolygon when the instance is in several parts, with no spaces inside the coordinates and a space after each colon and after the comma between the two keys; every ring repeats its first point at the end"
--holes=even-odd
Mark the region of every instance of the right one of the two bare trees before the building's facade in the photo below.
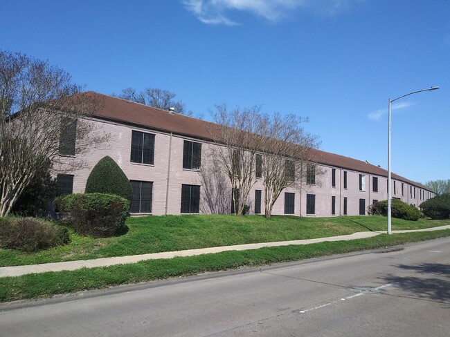
{"type": "MultiPolygon", "coordinates": [[[[261,144],[261,163],[258,163],[264,184],[264,215],[270,218],[273,204],[283,189],[300,186],[321,171],[312,160],[312,148],[318,146],[317,137],[306,133],[301,126],[307,119],[296,115],[282,117],[278,113],[263,115],[260,130],[265,136],[261,144]]],[[[314,181],[314,184],[316,182],[314,181]]]]}

